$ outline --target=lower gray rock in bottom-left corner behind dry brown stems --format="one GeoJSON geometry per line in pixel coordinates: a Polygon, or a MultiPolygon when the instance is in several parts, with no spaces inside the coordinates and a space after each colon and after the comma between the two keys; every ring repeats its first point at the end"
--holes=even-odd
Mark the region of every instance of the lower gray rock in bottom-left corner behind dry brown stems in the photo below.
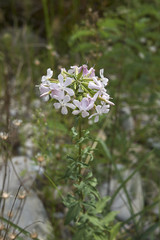
{"type": "MultiPolygon", "coordinates": [[[[7,219],[13,205],[15,194],[16,193],[14,193],[14,196],[11,195],[11,197],[6,199],[4,217],[7,219]]],[[[12,213],[13,217],[11,220],[13,223],[21,228],[26,228],[30,233],[37,233],[40,240],[47,239],[47,236],[51,234],[52,228],[47,213],[41,200],[33,191],[30,191],[29,194],[27,194],[25,200],[16,200],[12,213]]],[[[25,236],[23,239],[28,240],[30,237],[28,238],[25,236]]],[[[52,239],[54,239],[53,235],[52,239]]]]}

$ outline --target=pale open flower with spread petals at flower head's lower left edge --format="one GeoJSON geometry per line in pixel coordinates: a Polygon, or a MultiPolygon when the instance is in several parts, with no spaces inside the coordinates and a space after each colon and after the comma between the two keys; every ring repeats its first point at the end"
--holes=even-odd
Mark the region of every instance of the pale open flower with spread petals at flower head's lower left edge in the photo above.
{"type": "Polygon", "coordinates": [[[67,107],[75,109],[75,105],[72,103],[69,103],[70,100],[71,100],[70,96],[66,95],[63,97],[63,99],[59,100],[59,103],[54,103],[53,105],[56,109],[62,108],[61,113],[66,115],[68,113],[67,107]]]}

